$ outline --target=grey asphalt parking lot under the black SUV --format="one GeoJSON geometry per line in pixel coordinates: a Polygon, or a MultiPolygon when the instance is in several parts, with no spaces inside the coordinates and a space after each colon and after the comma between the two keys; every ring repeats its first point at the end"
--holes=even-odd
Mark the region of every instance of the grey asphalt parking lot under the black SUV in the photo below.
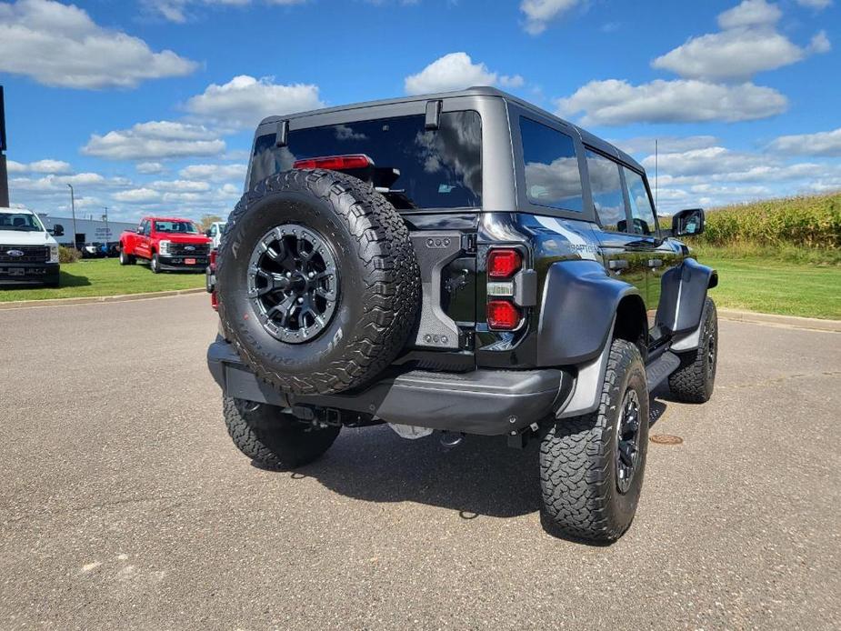
{"type": "Polygon", "coordinates": [[[540,525],[536,451],[345,430],[251,466],[206,295],[0,312],[0,628],[837,628],[841,336],[721,323],[706,406],[658,398],[614,546],[540,525]]]}

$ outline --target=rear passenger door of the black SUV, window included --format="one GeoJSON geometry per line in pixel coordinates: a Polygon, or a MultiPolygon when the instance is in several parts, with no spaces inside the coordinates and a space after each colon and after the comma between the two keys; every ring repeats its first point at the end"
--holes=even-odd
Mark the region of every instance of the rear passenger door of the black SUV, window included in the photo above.
{"type": "Polygon", "coordinates": [[[639,235],[629,227],[632,223],[621,166],[614,158],[591,147],[586,147],[585,156],[598,219],[596,237],[607,271],[611,276],[635,285],[646,301],[648,260],[645,250],[639,247],[639,235]]]}

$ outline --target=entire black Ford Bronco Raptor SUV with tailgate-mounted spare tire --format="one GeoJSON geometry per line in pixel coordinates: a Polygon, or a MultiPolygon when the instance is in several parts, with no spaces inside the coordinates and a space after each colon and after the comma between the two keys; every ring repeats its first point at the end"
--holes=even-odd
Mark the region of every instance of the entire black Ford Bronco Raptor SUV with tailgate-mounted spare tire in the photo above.
{"type": "Polygon", "coordinates": [[[540,441],[547,524],[610,541],[646,466],[649,393],[703,403],[716,272],[658,225],[643,167],[487,87],[266,118],[208,287],[208,364],[263,466],[342,426],[540,441]]]}

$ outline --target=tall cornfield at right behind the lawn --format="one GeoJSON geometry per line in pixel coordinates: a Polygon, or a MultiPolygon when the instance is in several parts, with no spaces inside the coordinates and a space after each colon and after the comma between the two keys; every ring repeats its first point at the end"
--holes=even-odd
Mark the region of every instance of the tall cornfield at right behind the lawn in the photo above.
{"type": "Polygon", "coordinates": [[[706,214],[696,245],[841,248],[841,193],[726,206],[706,214]]]}

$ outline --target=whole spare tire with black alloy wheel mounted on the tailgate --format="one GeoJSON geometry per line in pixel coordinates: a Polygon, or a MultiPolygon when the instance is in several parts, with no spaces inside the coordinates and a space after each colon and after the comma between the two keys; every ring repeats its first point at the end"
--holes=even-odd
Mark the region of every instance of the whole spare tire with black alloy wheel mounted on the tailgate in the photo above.
{"type": "Polygon", "coordinates": [[[371,185],[286,171],[246,193],[216,259],[225,335],[291,394],[371,381],[415,326],[420,278],[403,219],[371,185]]]}

